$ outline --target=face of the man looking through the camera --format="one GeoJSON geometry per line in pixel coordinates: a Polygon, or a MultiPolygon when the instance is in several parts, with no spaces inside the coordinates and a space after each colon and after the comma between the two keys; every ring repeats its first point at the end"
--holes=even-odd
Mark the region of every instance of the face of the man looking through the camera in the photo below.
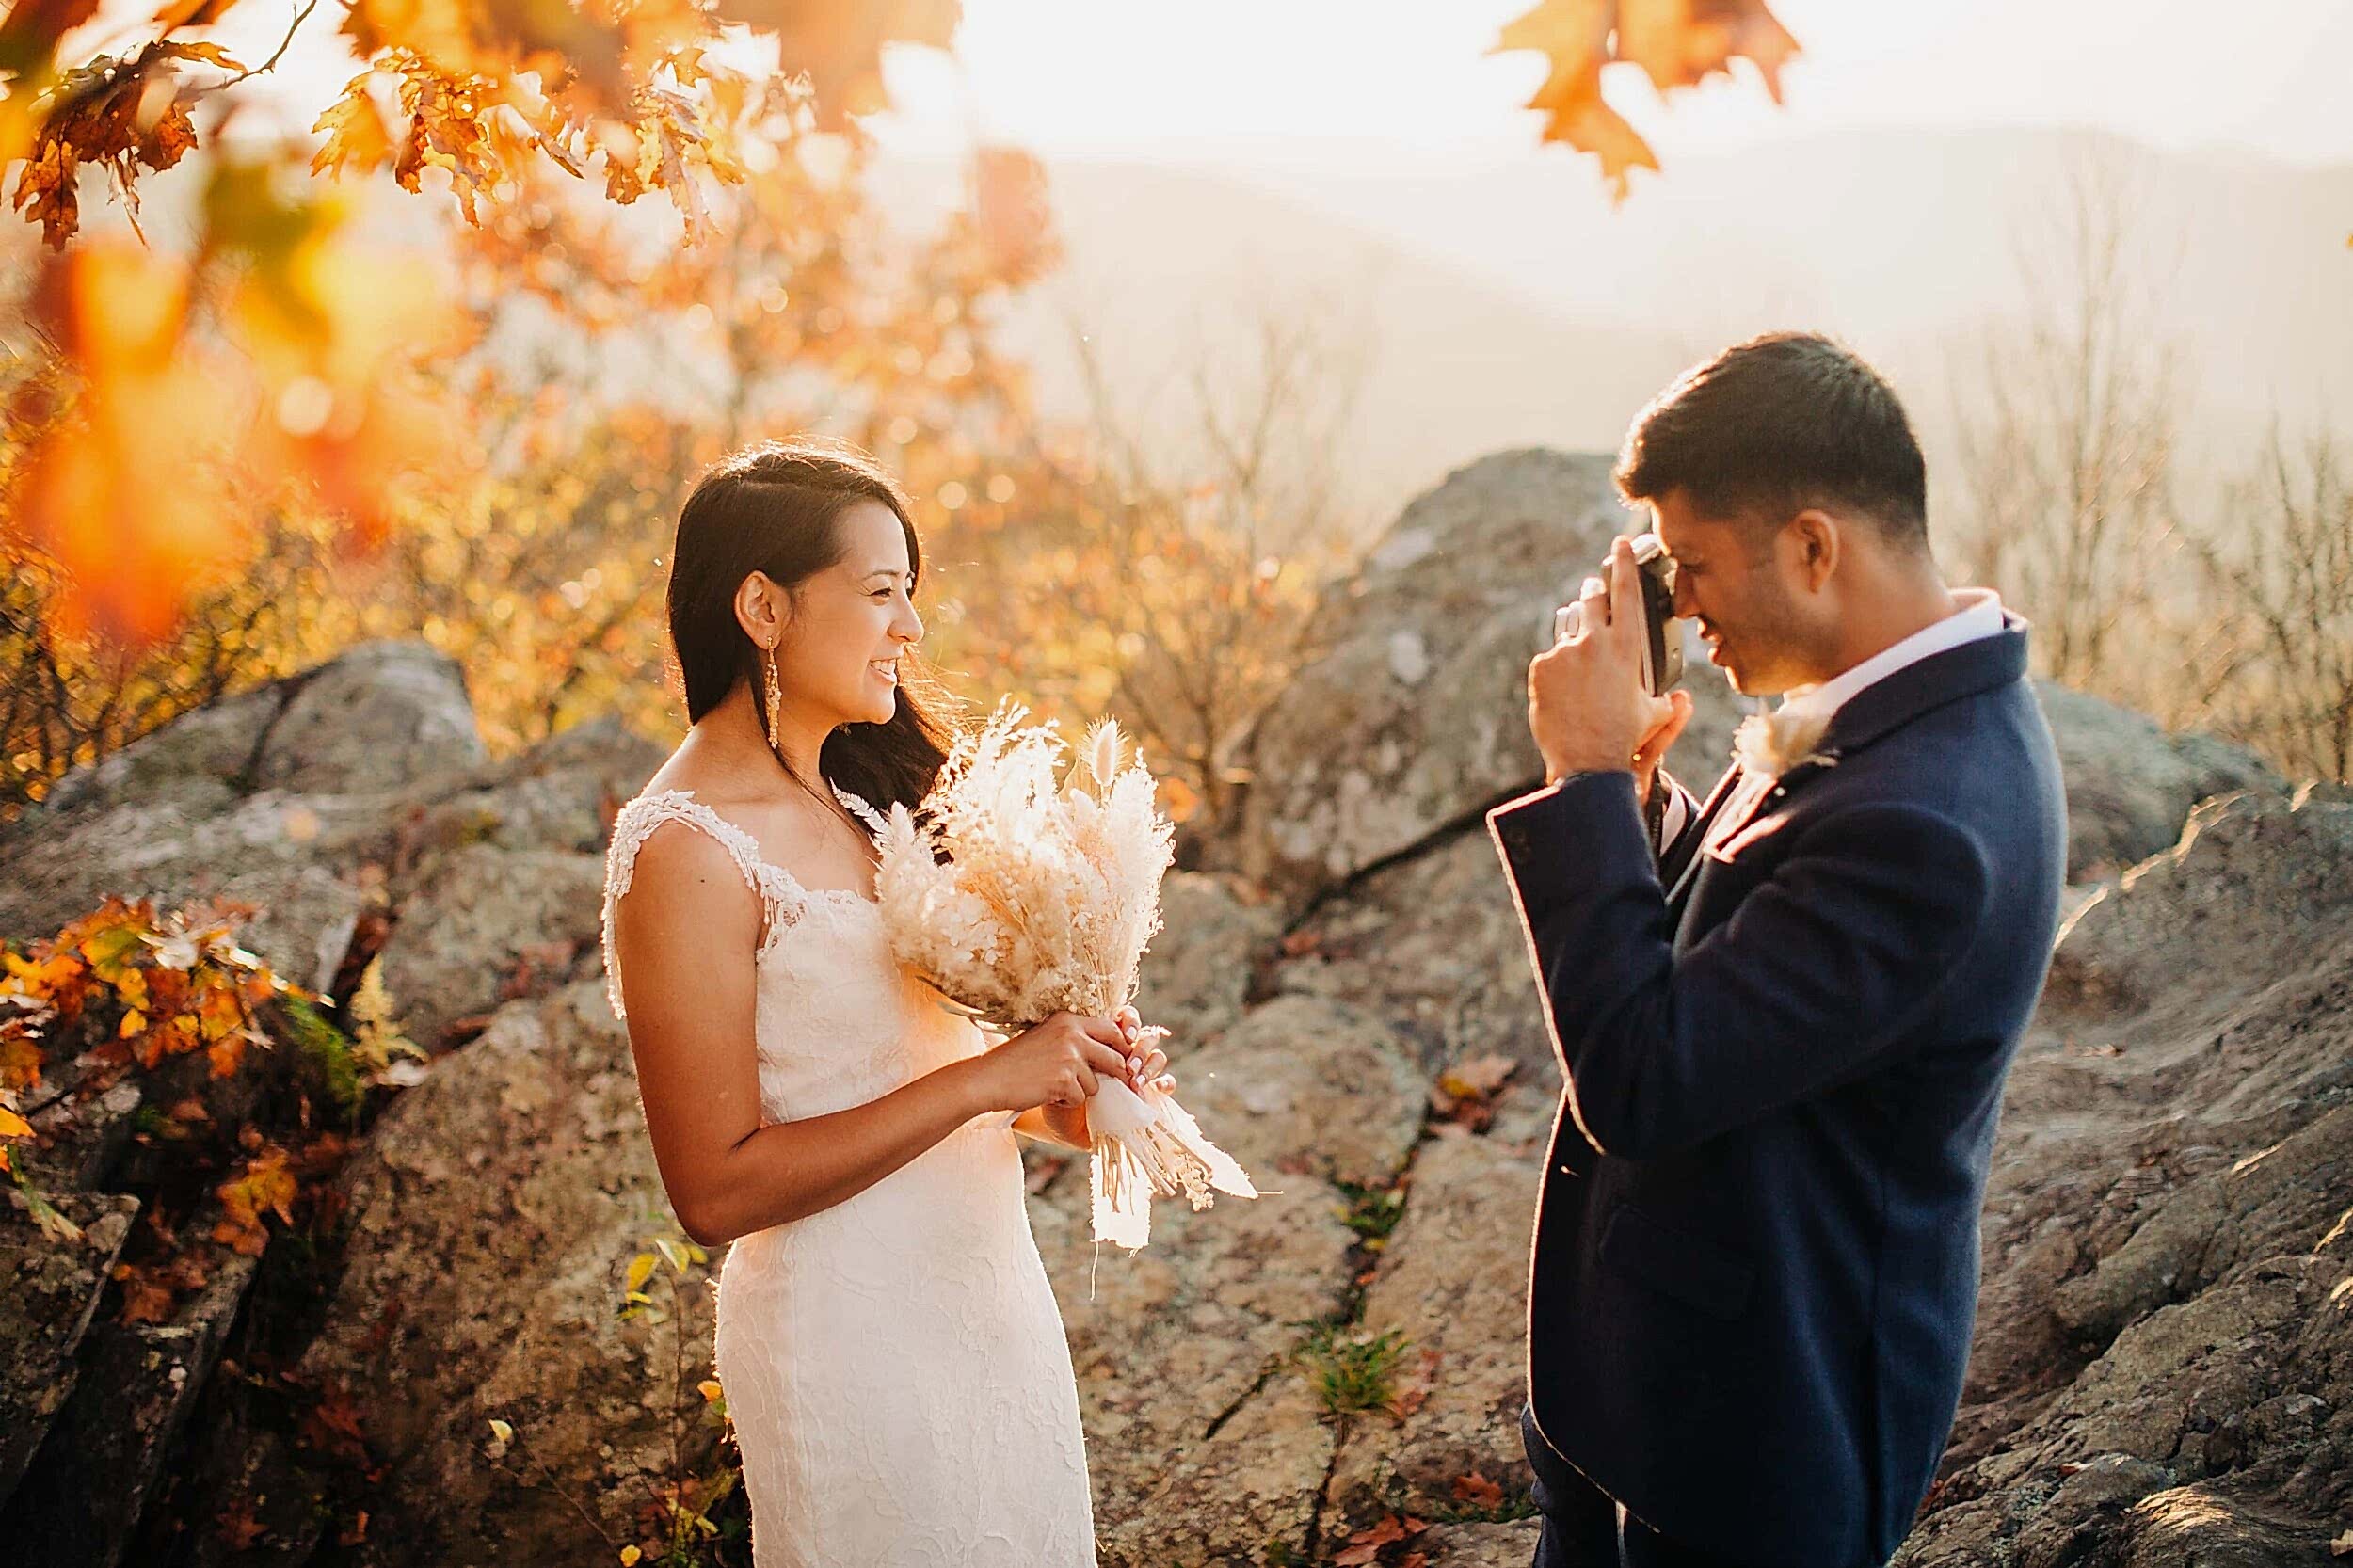
{"type": "Polygon", "coordinates": [[[1805,605],[1777,537],[1746,518],[1711,518],[1680,490],[1649,501],[1659,544],[1675,558],[1675,614],[1699,622],[1708,664],[1732,690],[1772,697],[1817,680],[1805,605]]]}

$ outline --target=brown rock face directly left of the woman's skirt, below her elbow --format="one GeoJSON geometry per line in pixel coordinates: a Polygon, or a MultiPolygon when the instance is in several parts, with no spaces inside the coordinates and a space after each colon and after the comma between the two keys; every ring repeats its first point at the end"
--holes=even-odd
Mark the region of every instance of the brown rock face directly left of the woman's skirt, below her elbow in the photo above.
{"type": "Polygon", "coordinates": [[[600,1561],[565,1497],[518,1481],[536,1464],[635,1540],[673,1415],[689,1464],[718,1434],[692,1389],[704,1288],[668,1321],[619,1316],[631,1257],[673,1222],[602,979],[501,1008],[393,1102],[346,1187],[348,1264],[299,1373],[348,1396],[384,1469],[351,1561],[600,1561]],[[518,1434],[504,1464],[492,1417],[518,1434]]]}

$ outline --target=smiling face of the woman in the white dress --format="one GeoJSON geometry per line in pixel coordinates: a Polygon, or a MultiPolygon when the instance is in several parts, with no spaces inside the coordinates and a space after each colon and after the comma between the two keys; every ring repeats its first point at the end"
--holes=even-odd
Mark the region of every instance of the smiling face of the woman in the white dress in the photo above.
{"type": "Polygon", "coordinates": [[[880,501],[833,523],[840,558],[802,579],[776,643],[784,706],[819,725],[880,725],[899,706],[899,655],[922,640],[906,527],[880,501]]]}

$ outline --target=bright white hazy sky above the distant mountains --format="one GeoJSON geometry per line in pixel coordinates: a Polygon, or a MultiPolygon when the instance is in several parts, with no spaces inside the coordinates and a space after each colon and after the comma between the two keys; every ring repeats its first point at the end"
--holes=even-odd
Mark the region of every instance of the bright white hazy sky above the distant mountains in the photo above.
{"type": "MultiPolygon", "coordinates": [[[[266,57],[299,0],[245,0],[219,38],[266,57]]],[[[1249,160],[1508,158],[1534,54],[1487,54],[1529,0],[965,0],[955,57],[894,49],[885,144],[969,137],[1052,153],[1249,160]]],[[[104,47],[153,0],[108,0],[104,47]]],[[[1631,66],[1605,89],[1673,160],[1854,125],[2089,125],[2165,148],[2353,160],[2353,0],[1774,0],[1805,57],[1774,111],[1753,73],[1661,108],[1631,66]]],[[[351,75],[336,7],[268,97],[308,115],[351,75]]]]}

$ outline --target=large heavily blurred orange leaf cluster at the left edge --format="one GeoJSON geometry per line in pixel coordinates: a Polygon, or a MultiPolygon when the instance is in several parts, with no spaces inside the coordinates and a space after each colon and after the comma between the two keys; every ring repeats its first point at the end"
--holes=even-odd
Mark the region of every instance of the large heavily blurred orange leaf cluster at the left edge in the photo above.
{"type": "Polygon", "coordinates": [[[56,358],[19,393],[5,504],[61,570],[64,636],[155,643],[245,570],[259,504],[289,485],[369,549],[393,487],[461,450],[407,370],[456,344],[438,283],[341,224],[268,165],[221,162],[193,254],[106,240],[47,261],[33,308],[56,358]]]}

